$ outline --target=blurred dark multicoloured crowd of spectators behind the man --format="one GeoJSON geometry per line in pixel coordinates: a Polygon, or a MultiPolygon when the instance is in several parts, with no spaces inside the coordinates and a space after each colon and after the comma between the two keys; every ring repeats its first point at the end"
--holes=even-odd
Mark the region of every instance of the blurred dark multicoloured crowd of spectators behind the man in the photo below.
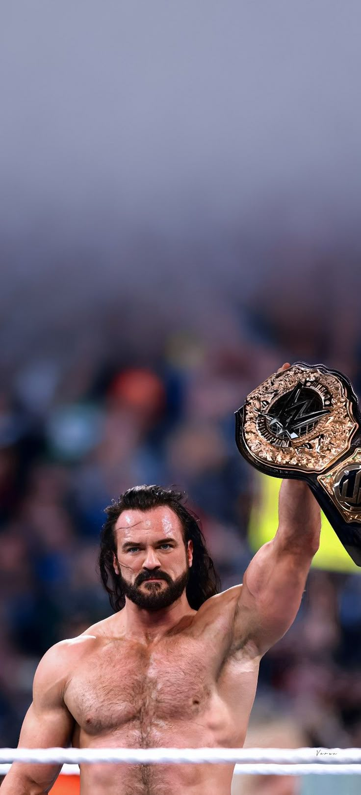
{"type": "MultiPolygon", "coordinates": [[[[346,339],[353,327],[342,322],[346,339]]],[[[236,450],[233,413],[286,360],[341,369],[337,339],[311,318],[300,327],[276,304],[271,316],[260,297],[232,344],[180,330],[159,339],[158,351],[144,355],[139,345],[130,355],[90,341],[58,358],[34,356],[2,385],[0,746],[17,745],[41,655],[110,614],[98,537],[121,491],[181,487],[222,589],[242,581],[257,489],[236,450]]],[[[356,388],[358,353],[348,346],[344,357],[356,388]]],[[[263,657],[252,719],[296,720],[311,746],[361,746],[360,630],[361,577],[313,569],[294,625],[263,657]]]]}

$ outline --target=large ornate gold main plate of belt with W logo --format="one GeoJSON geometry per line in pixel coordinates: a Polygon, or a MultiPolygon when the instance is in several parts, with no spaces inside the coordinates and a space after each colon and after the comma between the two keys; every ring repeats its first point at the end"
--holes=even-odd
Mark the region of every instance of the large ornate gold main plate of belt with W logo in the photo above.
{"type": "MultiPolygon", "coordinates": [[[[292,410],[291,403],[286,409],[288,416],[292,410]]],[[[325,471],[348,451],[357,428],[344,385],[336,375],[317,368],[296,365],[271,375],[248,395],[244,405],[244,444],[250,456],[280,470],[295,467],[304,472],[325,471]],[[278,421],[277,406],[282,396],[289,395],[285,400],[290,402],[298,386],[303,400],[300,397],[294,403],[297,432],[292,433],[278,421]],[[305,395],[310,397],[305,399],[305,395]],[[308,411],[311,401],[313,409],[318,401],[319,410],[308,411]]]]}

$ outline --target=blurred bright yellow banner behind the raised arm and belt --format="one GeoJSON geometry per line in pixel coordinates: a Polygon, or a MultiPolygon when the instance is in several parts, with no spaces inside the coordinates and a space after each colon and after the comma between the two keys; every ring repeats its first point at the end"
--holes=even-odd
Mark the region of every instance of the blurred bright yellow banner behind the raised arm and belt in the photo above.
{"type": "MultiPolygon", "coordinates": [[[[267,475],[256,475],[256,496],[248,525],[248,541],[255,551],[275,537],[278,527],[278,491],[282,480],[267,475]]],[[[313,558],[314,568],[330,572],[354,572],[361,574],[361,568],[351,560],[336,536],[330,523],[322,514],[320,549],[313,558]]]]}

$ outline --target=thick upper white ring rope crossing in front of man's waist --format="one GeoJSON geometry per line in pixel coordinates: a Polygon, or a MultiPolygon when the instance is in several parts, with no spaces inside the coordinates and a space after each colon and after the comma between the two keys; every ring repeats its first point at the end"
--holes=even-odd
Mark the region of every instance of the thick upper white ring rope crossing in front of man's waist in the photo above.
{"type": "Polygon", "coordinates": [[[329,766],[361,764],[361,748],[0,748],[0,762],[317,762],[329,766]]]}

